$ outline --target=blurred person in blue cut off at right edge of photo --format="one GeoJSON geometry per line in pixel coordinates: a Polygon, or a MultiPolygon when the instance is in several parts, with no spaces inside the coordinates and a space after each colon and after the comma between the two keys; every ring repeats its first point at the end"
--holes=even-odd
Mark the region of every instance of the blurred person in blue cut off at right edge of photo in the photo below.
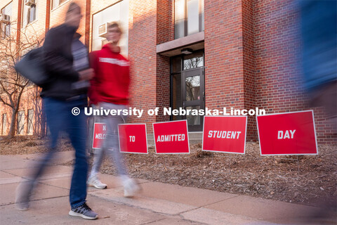
{"type": "Polygon", "coordinates": [[[300,1],[302,67],[310,105],[322,106],[337,134],[337,1],[300,1]]]}

